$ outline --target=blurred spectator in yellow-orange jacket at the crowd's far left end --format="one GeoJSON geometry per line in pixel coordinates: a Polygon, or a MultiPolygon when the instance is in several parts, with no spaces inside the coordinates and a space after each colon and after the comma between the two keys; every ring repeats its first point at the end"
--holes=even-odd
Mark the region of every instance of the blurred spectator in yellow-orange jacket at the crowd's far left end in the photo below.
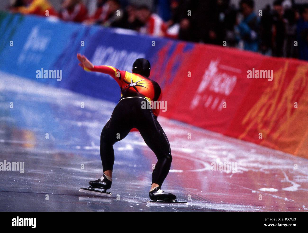
{"type": "Polygon", "coordinates": [[[40,16],[58,15],[48,0],[16,1],[11,10],[22,14],[36,14],[40,16]]]}

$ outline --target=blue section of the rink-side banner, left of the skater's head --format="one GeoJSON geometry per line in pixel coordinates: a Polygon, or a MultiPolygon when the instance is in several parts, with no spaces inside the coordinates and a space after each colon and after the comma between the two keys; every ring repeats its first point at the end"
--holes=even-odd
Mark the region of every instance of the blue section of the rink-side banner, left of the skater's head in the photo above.
{"type": "Polygon", "coordinates": [[[106,74],[83,71],[78,66],[77,53],[84,54],[94,65],[131,71],[137,58],[151,62],[167,42],[177,43],[126,30],[36,16],[1,13],[0,20],[0,70],[113,102],[120,98],[117,83],[106,74]],[[53,78],[44,78],[45,71],[53,78]]]}

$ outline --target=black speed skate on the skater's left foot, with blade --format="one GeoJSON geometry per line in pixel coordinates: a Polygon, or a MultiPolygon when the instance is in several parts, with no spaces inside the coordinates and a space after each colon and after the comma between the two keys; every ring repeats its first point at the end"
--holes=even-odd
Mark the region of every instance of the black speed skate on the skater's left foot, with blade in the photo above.
{"type": "Polygon", "coordinates": [[[89,184],[88,188],[80,188],[79,191],[99,196],[111,196],[111,192],[106,191],[111,188],[112,180],[109,180],[105,174],[98,180],[89,181],[89,184]],[[95,190],[95,188],[103,189],[103,191],[95,190]]]}

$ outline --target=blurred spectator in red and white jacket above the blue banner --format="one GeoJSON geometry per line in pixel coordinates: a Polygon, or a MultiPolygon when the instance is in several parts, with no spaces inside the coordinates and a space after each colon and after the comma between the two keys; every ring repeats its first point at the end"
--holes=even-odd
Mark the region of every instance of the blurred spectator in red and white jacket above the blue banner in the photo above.
{"type": "Polygon", "coordinates": [[[144,5],[138,8],[137,18],[144,25],[140,28],[140,33],[152,36],[165,35],[167,27],[164,21],[157,14],[152,13],[148,6],[144,5]]]}

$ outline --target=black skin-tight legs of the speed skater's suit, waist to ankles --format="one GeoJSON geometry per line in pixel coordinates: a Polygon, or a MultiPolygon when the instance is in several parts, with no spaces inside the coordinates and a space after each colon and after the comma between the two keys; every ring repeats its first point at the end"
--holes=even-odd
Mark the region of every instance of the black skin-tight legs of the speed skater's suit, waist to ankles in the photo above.
{"type": "Polygon", "coordinates": [[[113,144],[122,140],[132,128],[137,128],[144,142],[155,153],[157,163],[152,173],[152,183],[162,185],[170,170],[172,156],[170,144],[164,130],[151,109],[142,109],[143,98],[121,100],[102,130],[100,156],[103,171],[111,170],[114,164],[113,144]]]}

